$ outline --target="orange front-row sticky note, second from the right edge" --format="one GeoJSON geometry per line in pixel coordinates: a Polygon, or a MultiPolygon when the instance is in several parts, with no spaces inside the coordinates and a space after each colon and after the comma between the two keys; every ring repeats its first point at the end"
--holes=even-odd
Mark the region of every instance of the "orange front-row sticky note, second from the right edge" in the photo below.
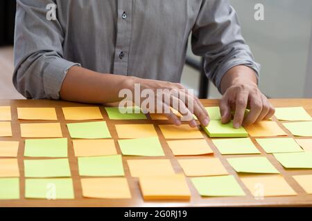
{"type": "Polygon", "coordinates": [[[281,175],[246,175],[241,181],[255,198],[297,195],[281,175]]]}

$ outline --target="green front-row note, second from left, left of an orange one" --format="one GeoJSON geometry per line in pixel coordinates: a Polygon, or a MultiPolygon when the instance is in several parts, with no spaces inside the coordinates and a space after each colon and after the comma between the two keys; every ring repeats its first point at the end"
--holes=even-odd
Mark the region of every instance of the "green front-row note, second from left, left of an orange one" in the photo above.
{"type": "Polygon", "coordinates": [[[73,180],[58,179],[26,179],[25,198],[33,199],[73,199],[73,180]]]}

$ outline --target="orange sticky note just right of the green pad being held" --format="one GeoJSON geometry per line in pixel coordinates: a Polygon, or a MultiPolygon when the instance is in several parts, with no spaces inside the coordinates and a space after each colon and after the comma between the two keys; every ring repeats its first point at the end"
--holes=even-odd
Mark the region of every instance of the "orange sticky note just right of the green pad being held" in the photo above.
{"type": "Polygon", "coordinates": [[[252,137],[275,137],[287,135],[276,122],[270,121],[262,121],[250,126],[245,126],[245,129],[252,137]]]}

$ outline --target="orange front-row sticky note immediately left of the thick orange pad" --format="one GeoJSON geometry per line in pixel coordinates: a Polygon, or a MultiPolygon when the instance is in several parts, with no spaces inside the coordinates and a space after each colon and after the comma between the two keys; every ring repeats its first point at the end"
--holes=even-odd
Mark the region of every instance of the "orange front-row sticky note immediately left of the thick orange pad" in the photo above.
{"type": "Polygon", "coordinates": [[[104,199],[130,199],[131,193],[124,177],[81,179],[83,197],[104,199]]]}

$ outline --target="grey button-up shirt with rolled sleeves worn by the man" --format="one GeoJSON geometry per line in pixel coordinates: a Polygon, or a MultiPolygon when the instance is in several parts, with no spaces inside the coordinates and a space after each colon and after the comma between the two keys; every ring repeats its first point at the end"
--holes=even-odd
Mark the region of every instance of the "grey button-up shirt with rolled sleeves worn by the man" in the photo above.
{"type": "Polygon", "coordinates": [[[18,0],[13,83],[27,98],[59,99],[75,65],[179,82],[190,34],[219,90],[233,66],[259,74],[228,0],[18,0]]]}

